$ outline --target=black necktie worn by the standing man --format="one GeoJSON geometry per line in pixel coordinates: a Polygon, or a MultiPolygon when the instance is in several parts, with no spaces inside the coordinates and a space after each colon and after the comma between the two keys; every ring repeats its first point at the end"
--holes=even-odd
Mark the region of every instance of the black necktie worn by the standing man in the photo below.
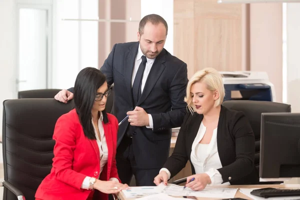
{"type": "Polygon", "coordinates": [[[133,96],[134,105],[137,103],[138,98],[141,95],[141,79],[142,79],[143,71],[145,70],[146,67],[146,62],[147,62],[146,56],[142,55],[141,62],[137,69],[134,82],[132,85],[132,96],[133,96]]]}

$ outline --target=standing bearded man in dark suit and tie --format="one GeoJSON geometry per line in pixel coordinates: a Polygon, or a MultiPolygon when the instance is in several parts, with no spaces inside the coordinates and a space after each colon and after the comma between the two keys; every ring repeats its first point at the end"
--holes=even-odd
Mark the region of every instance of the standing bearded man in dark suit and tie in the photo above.
{"type": "MultiPolygon", "coordinates": [[[[186,111],[186,63],[163,46],[167,23],[157,14],[144,16],[138,42],[114,44],[100,70],[114,83],[113,114],[121,121],[116,165],[119,178],[137,186],[154,185],[169,154],[171,128],[178,127],[186,111]]],[[[55,99],[66,102],[72,93],[61,90],[55,99]]]]}

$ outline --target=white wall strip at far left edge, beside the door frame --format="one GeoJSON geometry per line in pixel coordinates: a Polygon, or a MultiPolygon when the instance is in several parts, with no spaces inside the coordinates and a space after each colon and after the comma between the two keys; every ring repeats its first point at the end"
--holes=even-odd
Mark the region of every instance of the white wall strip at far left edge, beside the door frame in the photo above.
{"type": "Polygon", "coordinates": [[[16,4],[0,0],[0,136],[2,139],[2,102],[16,97],[16,4]]]}

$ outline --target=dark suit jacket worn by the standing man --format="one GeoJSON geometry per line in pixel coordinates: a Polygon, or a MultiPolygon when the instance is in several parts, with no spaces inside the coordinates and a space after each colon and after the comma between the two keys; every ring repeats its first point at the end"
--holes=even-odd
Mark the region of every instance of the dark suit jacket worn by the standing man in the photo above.
{"type": "MultiPolygon", "coordinates": [[[[153,119],[153,129],[135,126],[132,136],[134,158],[139,168],[160,168],[169,153],[171,128],[178,127],[186,113],[186,64],[163,49],[148,74],[143,92],[133,104],[131,77],[139,42],[115,44],[100,70],[107,83],[114,83],[113,114],[121,121],[134,106],[142,107],[153,119]]],[[[117,144],[128,126],[119,126],[117,144]]]]}

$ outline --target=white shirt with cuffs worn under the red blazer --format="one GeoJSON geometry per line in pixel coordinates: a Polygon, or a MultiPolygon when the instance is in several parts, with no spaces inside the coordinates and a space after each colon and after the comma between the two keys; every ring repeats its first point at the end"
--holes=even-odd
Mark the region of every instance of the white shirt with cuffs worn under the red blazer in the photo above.
{"type": "MultiPolygon", "coordinates": [[[[99,176],[96,177],[97,179],[100,177],[100,174],[103,170],[103,167],[107,163],[107,159],[108,159],[108,148],[107,148],[106,138],[105,138],[104,129],[103,129],[103,125],[102,125],[103,115],[102,115],[102,112],[99,112],[99,113],[100,113],[100,117],[99,117],[99,120],[98,120],[98,129],[99,129],[99,132],[100,132],[101,139],[99,138],[99,136],[97,134],[96,128],[95,128],[95,126],[92,122],[92,118],[91,118],[91,124],[94,128],[96,141],[97,141],[97,144],[98,144],[98,147],[99,147],[99,152],[100,152],[100,163],[99,163],[100,164],[100,173],[99,173],[99,176]]],[[[88,189],[89,178],[90,178],[89,176],[86,176],[83,179],[83,182],[81,184],[82,189],[88,189]]],[[[109,180],[119,182],[118,179],[114,178],[114,177],[109,178],[109,180]]]]}

